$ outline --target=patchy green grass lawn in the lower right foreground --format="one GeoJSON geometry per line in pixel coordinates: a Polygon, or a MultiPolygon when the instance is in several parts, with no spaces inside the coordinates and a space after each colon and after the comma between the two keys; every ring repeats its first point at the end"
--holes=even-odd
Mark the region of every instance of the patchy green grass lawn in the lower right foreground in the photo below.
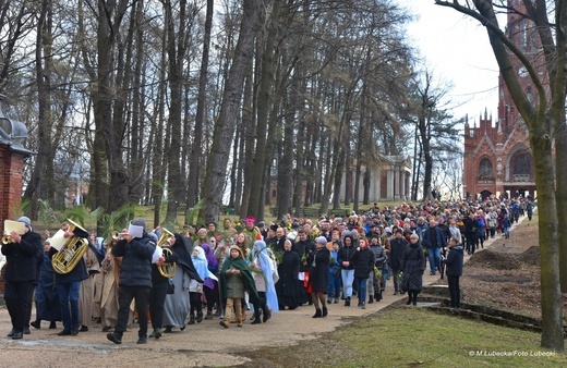
{"type": "MultiPolygon", "coordinates": [[[[307,331],[305,331],[307,332],[307,331]]],[[[299,346],[246,353],[253,367],[566,367],[540,334],[395,307],[299,346]]]]}

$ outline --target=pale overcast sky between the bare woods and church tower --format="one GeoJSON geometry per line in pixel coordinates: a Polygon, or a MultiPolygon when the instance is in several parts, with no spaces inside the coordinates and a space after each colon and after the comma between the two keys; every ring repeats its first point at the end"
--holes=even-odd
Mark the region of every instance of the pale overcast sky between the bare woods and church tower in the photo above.
{"type": "Polygon", "coordinates": [[[469,115],[479,122],[487,110],[497,116],[498,71],[484,27],[457,11],[434,4],[434,0],[398,0],[419,20],[408,27],[413,45],[421,50],[422,65],[438,81],[453,84],[455,118],[469,115]]]}

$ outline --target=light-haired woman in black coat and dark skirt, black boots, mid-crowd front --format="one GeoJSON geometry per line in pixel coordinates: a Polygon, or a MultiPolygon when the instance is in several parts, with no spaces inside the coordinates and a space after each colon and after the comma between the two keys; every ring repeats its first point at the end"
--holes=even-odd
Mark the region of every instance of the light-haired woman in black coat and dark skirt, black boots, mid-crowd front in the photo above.
{"type": "Polygon", "coordinates": [[[330,252],[327,248],[327,238],[325,236],[318,236],[315,240],[315,252],[309,256],[311,269],[307,280],[307,293],[311,293],[311,299],[315,306],[313,318],[319,318],[326,317],[328,312],[325,295],[329,285],[330,252]]]}

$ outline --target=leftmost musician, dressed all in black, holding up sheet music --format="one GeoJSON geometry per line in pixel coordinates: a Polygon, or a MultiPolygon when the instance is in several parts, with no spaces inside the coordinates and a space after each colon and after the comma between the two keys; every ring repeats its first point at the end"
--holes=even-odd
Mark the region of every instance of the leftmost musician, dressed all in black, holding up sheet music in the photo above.
{"type": "Polygon", "coordinates": [[[32,222],[21,217],[17,222],[25,224],[23,234],[12,231],[8,244],[1,247],[7,258],[4,300],[10,314],[12,330],[8,333],[14,340],[29,333],[32,297],[37,279],[38,266],[43,261],[41,236],[32,231],[32,222]]]}

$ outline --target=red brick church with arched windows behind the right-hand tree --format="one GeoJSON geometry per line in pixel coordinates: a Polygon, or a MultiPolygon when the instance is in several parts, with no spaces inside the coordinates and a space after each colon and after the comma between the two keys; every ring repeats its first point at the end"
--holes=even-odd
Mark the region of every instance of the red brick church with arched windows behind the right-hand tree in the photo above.
{"type": "MultiPolygon", "coordinates": [[[[518,1],[514,2],[518,7],[518,1]]],[[[522,5],[520,5],[521,9],[522,5]]],[[[531,58],[536,58],[538,37],[529,23],[508,14],[508,37],[531,58]]],[[[535,88],[521,63],[512,59],[527,96],[535,98],[535,88]]],[[[463,195],[488,197],[518,195],[535,197],[533,157],[528,127],[516,109],[502,74],[498,77],[498,116],[493,122],[486,111],[479,124],[465,124],[463,195]]]]}

